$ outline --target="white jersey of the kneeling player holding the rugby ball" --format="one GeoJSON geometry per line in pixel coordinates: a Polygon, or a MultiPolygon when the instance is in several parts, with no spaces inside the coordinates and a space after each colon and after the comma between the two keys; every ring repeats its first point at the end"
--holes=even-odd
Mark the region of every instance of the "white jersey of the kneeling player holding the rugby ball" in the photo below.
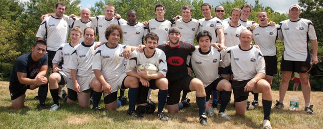
{"type": "Polygon", "coordinates": [[[167,64],[166,64],[166,55],[164,51],[156,48],[153,56],[146,57],[145,52],[140,53],[137,50],[131,53],[131,58],[128,61],[126,66],[126,72],[136,70],[137,66],[142,64],[150,63],[155,65],[158,68],[158,72],[162,73],[166,77],[167,73],[167,64]]]}

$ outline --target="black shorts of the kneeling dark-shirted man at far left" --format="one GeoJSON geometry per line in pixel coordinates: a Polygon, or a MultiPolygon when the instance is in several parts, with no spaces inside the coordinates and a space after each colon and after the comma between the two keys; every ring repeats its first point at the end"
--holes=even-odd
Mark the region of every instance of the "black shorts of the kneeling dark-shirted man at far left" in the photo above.
{"type": "Polygon", "coordinates": [[[21,95],[25,94],[27,90],[26,85],[20,84],[17,82],[9,82],[9,91],[10,91],[10,97],[11,100],[14,100],[21,95]]]}

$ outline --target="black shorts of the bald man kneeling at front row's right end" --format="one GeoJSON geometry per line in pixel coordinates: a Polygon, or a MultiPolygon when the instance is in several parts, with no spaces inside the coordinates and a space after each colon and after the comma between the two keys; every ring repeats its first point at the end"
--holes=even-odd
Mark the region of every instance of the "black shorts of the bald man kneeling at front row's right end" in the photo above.
{"type": "MultiPolygon", "coordinates": [[[[249,80],[243,80],[243,81],[236,81],[233,80],[232,82],[232,89],[233,89],[233,95],[235,98],[235,102],[241,102],[244,100],[248,99],[249,96],[249,92],[245,92],[245,86],[247,85],[247,83],[250,81],[249,80]]],[[[253,92],[252,92],[253,93],[253,92]]]]}

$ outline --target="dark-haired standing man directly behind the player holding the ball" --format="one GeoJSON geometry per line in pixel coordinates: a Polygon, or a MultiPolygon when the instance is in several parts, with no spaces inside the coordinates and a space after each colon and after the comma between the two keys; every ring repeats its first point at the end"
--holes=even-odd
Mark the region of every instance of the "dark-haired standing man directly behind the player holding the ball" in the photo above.
{"type": "Polygon", "coordinates": [[[155,14],[156,18],[151,19],[144,24],[148,27],[149,32],[154,32],[159,37],[159,43],[165,44],[168,41],[168,30],[172,26],[172,23],[164,19],[164,14],[166,13],[165,6],[161,3],[156,4],[155,14]]]}

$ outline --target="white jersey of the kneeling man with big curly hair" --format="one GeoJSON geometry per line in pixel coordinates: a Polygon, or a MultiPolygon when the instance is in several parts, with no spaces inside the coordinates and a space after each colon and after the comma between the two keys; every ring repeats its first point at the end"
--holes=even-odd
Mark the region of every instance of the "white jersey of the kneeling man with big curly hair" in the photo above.
{"type": "Polygon", "coordinates": [[[124,72],[124,58],[122,57],[127,45],[117,44],[115,48],[109,48],[107,44],[101,45],[95,50],[92,70],[102,72],[105,81],[113,81],[124,72]]]}

